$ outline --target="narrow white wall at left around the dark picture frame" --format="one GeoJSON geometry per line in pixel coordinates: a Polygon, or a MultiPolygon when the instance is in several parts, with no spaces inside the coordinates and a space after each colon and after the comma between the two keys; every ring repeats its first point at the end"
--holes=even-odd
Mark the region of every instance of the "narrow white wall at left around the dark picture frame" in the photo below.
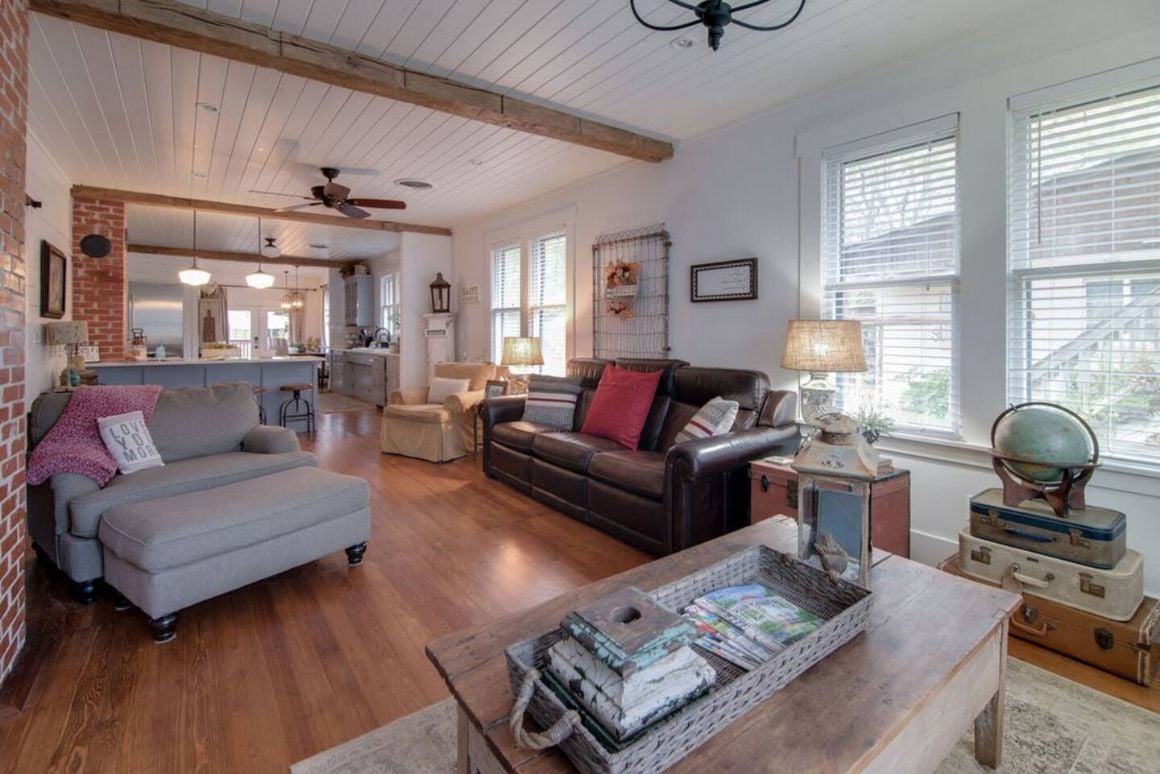
{"type": "Polygon", "coordinates": [[[24,209],[26,277],[26,411],[37,395],[56,386],[60,370],[66,366],[64,347],[44,343],[44,324],[52,320],[41,317],[41,240],[68,255],[67,288],[64,319],[72,319],[72,194],[70,182],[49,152],[31,133],[28,135],[28,182],[24,190],[41,202],[39,209],[24,209]]]}

